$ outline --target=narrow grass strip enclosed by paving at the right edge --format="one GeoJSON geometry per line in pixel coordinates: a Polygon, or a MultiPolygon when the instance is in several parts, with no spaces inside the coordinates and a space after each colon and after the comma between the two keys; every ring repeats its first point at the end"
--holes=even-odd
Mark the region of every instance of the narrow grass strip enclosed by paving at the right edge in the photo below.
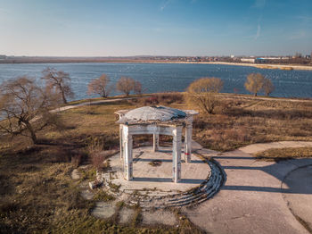
{"type": "Polygon", "coordinates": [[[293,158],[312,157],[312,147],[272,148],[255,155],[266,161],[281,161],[293,158]]]}

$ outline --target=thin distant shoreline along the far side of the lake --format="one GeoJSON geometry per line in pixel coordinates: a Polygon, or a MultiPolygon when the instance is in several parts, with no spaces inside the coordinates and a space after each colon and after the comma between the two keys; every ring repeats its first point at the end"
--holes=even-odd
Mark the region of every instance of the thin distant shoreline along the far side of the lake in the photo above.
{"type": "Polygon", "coordinates": [[[312,66],[299,64],[267,64],[267,63],[229,63],[229,62],[183,62],[164,60],[119,60],[119,59],[17,59],[0,60],[0,64],[20,64],[20,63],[181,63],[181,64],[219,64],[233,66],[256,67],[259,69],[279,69],[279,70],[303,70],[312,71],[312,66]]]}

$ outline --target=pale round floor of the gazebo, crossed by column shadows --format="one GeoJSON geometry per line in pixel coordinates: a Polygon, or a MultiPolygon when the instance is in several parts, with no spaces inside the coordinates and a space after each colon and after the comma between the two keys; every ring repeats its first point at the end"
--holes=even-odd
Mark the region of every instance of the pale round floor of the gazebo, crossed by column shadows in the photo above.
{"type": "MultiPolygon", "coordinates": [[[[185,163],[185,154],[181,154],[181,180],[172,181],[172,147],[160,147],[153,152],[151,146],[133,149],[133,180],[124,179],[123,162],[119,154],[110,158],[111,183],[120,185],[119,190],[160,190],[163,192],[183,192],[199,186],[209,176],[209,164],[196,155],[192,162],[185,163]]],[[[105,178],[108,178],[107,176],[105,178]]]]}

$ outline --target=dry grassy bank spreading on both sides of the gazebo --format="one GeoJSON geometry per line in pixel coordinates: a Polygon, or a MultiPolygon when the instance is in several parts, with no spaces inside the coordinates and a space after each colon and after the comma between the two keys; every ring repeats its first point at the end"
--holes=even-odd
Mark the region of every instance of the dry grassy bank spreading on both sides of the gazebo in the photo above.
{"type": "MultiPolygon", "coordinates": [[[[1,232],[191,233],[191,223],[185,228],[147,229],[136,222],[124,227],[117,221],[95,219],[89,214],[94,202],[83,200],[70,179],[78,164],[88,163],[86,148],[94,138],[103,142],[103,149],[118,149],[115,111],[146,104],[195,108],[186,106],[181,94],[79,106],[59,113],[62,129],[38,133],[41,145],[32,146],[23,137],[0,137],[1,232]]],[[[219,96],[215,114],[195,118],[193,138],[221,151],[250,143],[312,140],[312,102],[219,96]]],[[[145,140],[152,142],[151,137],[137,136],[135,144],[145,140]]]]}

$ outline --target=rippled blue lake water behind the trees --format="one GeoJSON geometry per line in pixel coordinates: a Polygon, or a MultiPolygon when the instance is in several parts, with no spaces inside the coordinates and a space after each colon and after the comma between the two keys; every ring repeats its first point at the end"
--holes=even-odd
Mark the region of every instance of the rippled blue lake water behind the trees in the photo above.
{"type": "MultiPolygon", "coordinates": [[[[145,93],[184,91],[194,79],[217,77],[224,81],[222,92],[248,94],[243,84],[248,74],[259,72],[272,79],[275,91],[271,96],[312,97],[312,71],[264,70],[248,66],[194,63],[23,63],[0,64],[0,83],[18,76],[42,76],[46,67],[70,73],[75,98],[86,95],[91,79],[105,73],[116,83],[120,76],[139,80],[145,93]]],[[[116,91],[112,95],[118,95],[116,91]]],[[[94,96],[93,96],[94,97],[94,96]]]]}

